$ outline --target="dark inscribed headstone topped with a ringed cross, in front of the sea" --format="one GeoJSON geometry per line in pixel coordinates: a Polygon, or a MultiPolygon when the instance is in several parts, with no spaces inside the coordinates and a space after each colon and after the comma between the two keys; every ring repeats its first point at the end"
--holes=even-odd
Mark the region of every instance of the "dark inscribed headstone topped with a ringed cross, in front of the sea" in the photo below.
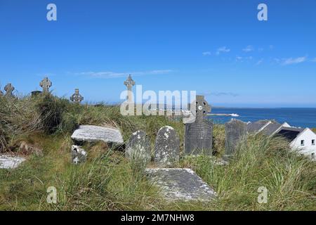
{"type": "Polygon", "coordinates": [[[193,109],[195,111],[192,111],[192,114],[195,115],[195,122],[185,124],[185,154],[211,155],[213,123],[204,119],[211,111],[211,107],[204,100],[204,96],[197,96],[196,101],[192,104],[195,104],[195,109],[193,109]]]}

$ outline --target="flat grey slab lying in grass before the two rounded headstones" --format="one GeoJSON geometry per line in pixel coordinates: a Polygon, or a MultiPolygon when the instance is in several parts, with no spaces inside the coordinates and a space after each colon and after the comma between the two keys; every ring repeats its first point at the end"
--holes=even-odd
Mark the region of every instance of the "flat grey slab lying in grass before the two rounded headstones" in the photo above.
{"type": "Polygon", "coordinates": [[[150,180],[161,188],[166,200],[210,201],[216,192],[192,169],[154,168],[146,169],[150,180]]]}

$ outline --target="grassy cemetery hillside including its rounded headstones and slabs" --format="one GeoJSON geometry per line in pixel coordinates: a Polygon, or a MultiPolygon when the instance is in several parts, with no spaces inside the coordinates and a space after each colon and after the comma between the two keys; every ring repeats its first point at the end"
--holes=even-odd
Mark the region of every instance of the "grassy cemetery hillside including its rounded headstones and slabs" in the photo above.
{"type": "Polygon", "coordinates": [[[182,119],[124,116],[119,105],[75,103],[48,90],[0,96],[0,154],[21,160],[0,169],[0,210],[316,210],[315,160],[296,153],[289,139],[244,136],[246,124],[213,124],[204,115],[192,124],[182,119]],[[194,139],[185,132],[195,123],[210,138],[207,154],[188,153],[194,139]],[[233,154],[226,149],[230,134],[242,137],[233,154]],[[152,182],[157,167],[174,179],[164,181],[172,200],[152,182]],[[189,186],[187,177],[199,185],[189,186]],[[175,199],[170,190],[177,187],[191,193],[175,199]]]}

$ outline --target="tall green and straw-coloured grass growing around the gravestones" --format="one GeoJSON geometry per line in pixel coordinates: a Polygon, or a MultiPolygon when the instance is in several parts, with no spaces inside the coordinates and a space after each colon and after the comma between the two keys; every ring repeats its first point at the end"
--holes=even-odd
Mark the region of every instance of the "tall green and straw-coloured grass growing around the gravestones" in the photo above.
{"type": "Polygon", "coordinates": [[[284,139],[250,137],[229,165],[218,165],[225,128],[216,124],[214,156],[182,157],[177,166],[192,168],[218,197],[210,203],[169,203],[147,181],[146,165],[128,162],[122,151],[105,143],[87,143],[88,161],[72,165],[70,136],[79,124],[118,127],[124,141],[143,129],[152,149],[157,131],[169,125],[183,143],[183,124],[163,116],[124,117],[118,106],[78,105],[51,95],[0,98],[1,151],[21,154],[20,141],[43,150],[24,155],[27,161],[17,169],[0,169],[0,210],[316,210],[315,162],[290,151],[284,139]],[[49,186],[57,189],[56,204],[46,202],[49,186]],[[257,201],[261,186],[268,189],[266,204],[257,201]]]}

